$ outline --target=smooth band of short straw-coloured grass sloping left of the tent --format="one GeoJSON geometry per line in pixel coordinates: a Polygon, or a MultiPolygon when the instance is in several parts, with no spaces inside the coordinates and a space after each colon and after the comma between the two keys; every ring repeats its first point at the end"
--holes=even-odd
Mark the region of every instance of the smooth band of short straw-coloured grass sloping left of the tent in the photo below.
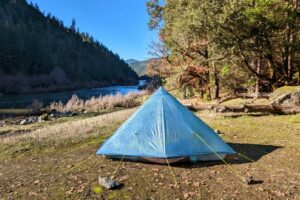
{"type": "Polygon", "coordinates": [[[15,144],[27,141],[65,141],[70,138],[89,137],[105,126],[113,126],[125,121],[136,108],[117,111],[87,119],[72,120],[60,124],[48,124],[31,131],[33,125],[23,128],[23,134],[13,134],[0,138],[0,143],[15,144]],[[27,130],[27,131],[26,131],[27,130]]]}

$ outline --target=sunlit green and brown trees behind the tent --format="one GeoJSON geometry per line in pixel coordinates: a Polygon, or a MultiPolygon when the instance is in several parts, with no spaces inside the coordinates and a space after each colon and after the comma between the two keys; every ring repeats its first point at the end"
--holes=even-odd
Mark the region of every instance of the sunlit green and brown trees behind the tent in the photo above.
{"type": "Polygon", "coordinates": [[[208,99],[300,85],[299,9],[299,0],[149,0],[159,74],[208,99]]]}

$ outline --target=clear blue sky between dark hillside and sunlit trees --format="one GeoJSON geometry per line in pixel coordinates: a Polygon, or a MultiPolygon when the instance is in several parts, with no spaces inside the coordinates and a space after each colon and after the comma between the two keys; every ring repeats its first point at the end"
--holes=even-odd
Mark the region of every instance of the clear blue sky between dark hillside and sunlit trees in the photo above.
{"type": "Polygon", "coordinates": [[[125,60],[149,58],[149,45],[158,38],[147,26],[146,0],[29,1],[67,26],[75,18],[81,32],[88,32],[125,60]]]}

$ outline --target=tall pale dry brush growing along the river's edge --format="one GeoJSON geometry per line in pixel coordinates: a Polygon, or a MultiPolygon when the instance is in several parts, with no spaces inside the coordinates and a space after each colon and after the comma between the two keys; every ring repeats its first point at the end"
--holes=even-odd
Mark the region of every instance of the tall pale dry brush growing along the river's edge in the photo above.
{"type": "Polygon", "coordinates": [[[100,97],[92,97],[88,100],[79,99],[78,96],[73,95],[72,98],[66,103],[53,102],[50,105],[50,109],[57,110],[59,112],[68,111],[96,111],[102,109],[113,109],[117,107],[132,108],[139,104],[138,98],[144,93],[127,93],[125,95],[105,95],[100,97]]]}

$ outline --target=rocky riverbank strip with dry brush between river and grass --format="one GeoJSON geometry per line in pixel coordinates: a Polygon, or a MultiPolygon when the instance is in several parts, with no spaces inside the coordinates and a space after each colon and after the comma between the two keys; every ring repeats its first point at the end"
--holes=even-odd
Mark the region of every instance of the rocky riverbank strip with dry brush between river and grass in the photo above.
{"type": "Polygon", "coordinates": [[[54,121],[59,118],[73,117],[82,114],[101,114],[107,111],[132,108],[140,105],[145,97],[144,91],[117,93],[91,99],[80,99],[73,95],[66,103],[52,102],[43,107],[40,102],[34,102],[27,109],[0,109],[0,127],[8,125],[28,125],[54,121]]]}

